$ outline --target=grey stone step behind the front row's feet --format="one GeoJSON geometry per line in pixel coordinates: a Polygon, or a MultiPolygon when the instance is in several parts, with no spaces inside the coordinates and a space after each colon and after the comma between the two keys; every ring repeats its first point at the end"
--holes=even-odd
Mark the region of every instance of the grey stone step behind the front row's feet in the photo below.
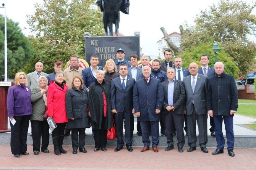
{"type": "MultiPolygon", "coordinates": [[[[4,145],[9,145],[10,144],[10,133],[0,133],[0,144],[4,145]]],[[[197,137],[198,138],[198,137],[197,137]]],[[[225,143],[227,143],[227,138],[225,138],[225,143]]],[[[125,141],[125,138],[123,137],[123,140],[125,141]]],[[[151,140],[151,136],[150,136],[151,140]]],[[[173,141],[174,141],[174,146],[177,146],[177,137],[173,136],[173,141]]],[[[197,139],[199,141],[199,139],[197,139]]],[[[159,137],[159,145],[158,146],[167,146],[167,139],[166,136],[160,136],[159,137]]],[[[27,137],[27,144],[32,145],[32,136],[27,137]]],[[[52,135],[50,135],[50,145],[52,145],[52,135]]],[[[86,146],[94,146],[94,137],[92,134],[86,134],[85,138],[85,144],[86,146]]],[[[71,135],[70,136],[65,136],[63,145],[72,145],[71,142],[71,135]]],[[[199,143],[197,142],[197,147],[199,147],[199,143]]],[[[215,137],[212,137],[208,135],[208,143],[207,147],[213,147],[216,148],[216,139],[215,137]]],[[[114,140],[108,140],[107,141],[107,146],[117,146],[117,139],[114,140]]],[[[144,146],[141,136],[138,136],[137,134],[134,134],[133,136],[133,146],[144,146]]],[[[185,147],[188,147],[188,138],[185,136],[185,147]]],[[[227,147],[227,144],[225,144],[225,148],[227,147]]],[[[256,148],[256,136],[235,136],[235,148],[256,148]]]]}

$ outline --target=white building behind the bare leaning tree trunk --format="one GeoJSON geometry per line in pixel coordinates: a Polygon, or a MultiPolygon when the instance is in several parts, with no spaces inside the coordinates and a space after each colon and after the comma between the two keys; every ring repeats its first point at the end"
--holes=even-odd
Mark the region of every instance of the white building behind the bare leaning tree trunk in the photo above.
{"type": "MultiPolygon", "coordinates": [[[[173,32],[169,34],[170,40],[177,46],[180,47],[181,34],[178,32],[173,32]]],[[[157,49],[159,50],[160,58],[164,58],[164,50],[168,49],[169,46],[165,41],[164,37],[161,40],[157,41],[157,49]]]]}

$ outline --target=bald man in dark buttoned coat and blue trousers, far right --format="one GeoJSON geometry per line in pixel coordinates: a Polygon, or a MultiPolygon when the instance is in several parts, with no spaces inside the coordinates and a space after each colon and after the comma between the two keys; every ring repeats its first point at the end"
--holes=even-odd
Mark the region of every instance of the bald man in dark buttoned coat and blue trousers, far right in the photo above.
{"type": "Polygon", "coordinates": [[[216,75],[209,78],[209,94],[207,95],[207,110],[214,119],[217,141],[217,149],[212,154],[217,155],[224,152],[225,139],[222,133],[222,120],[224,120],[228,155],[235,156],[233,152],[235,141],[233,116],[238,108],[237,85],[232,75],[225,74],[222,62],[215,63],[214,69],[216,75]]]}

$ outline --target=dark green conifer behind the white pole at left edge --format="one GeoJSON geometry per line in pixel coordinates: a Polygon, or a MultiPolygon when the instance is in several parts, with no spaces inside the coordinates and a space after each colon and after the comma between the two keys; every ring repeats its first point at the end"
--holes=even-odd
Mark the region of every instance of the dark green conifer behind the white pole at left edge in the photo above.
{"type": "MultiPolygon", "coordinates": [[[[33,55],[31,42],[21,32],[18,22],[7,18],[7,75],[14,78],[33,55]]],[[[0,15],[0,75],[4,74],[4,50],[5,50],[5,18],[0,15]]]]}

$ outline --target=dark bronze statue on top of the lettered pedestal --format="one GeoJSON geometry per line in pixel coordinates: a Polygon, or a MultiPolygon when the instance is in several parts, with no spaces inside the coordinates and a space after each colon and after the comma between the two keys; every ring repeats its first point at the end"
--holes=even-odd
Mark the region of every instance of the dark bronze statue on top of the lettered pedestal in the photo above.
{"type": "Polygon", "coordinates": [[[105,36],[113,36],[113,26],[115,24],[115,34],[118,36],[120,11],[129,14],[129,0],[97,0],[97,5],[100,6],[100,10],[103,12],[103,23],[105,29],[105,36]]]}

